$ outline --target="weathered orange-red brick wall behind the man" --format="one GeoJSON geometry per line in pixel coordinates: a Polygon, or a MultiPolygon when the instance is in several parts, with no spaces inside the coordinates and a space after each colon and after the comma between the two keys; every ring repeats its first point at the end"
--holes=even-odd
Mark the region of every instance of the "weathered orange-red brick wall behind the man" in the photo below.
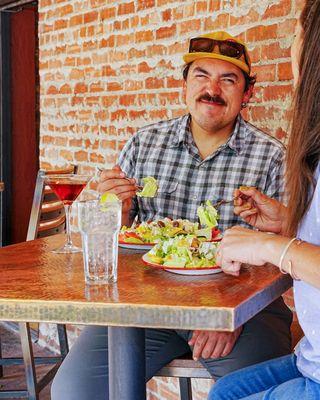
{"type": "MultiPolygon", "coordinates": [[[[285,140],[302,3],[39,0],[41,165],[111,167],[136,128],[183,114],[188,38],[219,29],[239,34],[251,50],[258,81],[245,117],[285,140]]],[[[205,399],[209,384],[195,385],[196,399],[205,399]]],[[[173,400],[174,392],[176,381],[153,381],[149,399],[173,400]]]]}

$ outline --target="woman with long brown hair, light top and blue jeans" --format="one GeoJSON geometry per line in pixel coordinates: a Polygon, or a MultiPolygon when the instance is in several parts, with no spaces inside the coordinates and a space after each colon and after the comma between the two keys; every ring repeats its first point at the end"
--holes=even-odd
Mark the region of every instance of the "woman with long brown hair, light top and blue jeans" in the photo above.
{"type": "Polygon", "coordinates": [[[240,227],[228,230],[218,262],[233,275],[239,274],[242,262],[271,262],[291,274],[305,337],[295,354],[220,379],[209,400],[320,399],[320,0],[306,1],[296,33],[288,207],[255,189],[241,190],[249,201],[237,200],[235,213],[260,232],[240,227]]]}

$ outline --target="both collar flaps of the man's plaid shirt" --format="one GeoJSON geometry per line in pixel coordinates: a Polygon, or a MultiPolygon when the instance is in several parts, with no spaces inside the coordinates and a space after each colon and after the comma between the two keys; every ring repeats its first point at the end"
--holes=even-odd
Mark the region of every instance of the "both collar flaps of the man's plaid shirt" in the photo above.
{"type": "MultiPolygon", "coordinates": [[[[192,138],[191,130],[190,130],[190,114],[186,114],[183,117],[177,120],[177,125],[175,126],[173,134],[171,135],[168,146],[176,147],[179,146],[180,143],[184,143],[188,141],[188,138],[192,138]]],[[[244,146],[246,136],[248,134],[246,122],[239,114],[236,120],[236,124],[234,130],[229,137],[228,141],[222,148],[226,148],[227,146],[234,150],[237,154],[241,152],[241,149],[244,146]]],[[[193,140],[193,139],[192,139],[193,140]]]]}

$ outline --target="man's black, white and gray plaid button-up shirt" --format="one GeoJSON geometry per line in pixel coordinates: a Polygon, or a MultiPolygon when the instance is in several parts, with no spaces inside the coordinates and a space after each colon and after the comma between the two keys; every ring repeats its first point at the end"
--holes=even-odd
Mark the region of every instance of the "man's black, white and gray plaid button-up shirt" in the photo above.
{"type": "MultiPolygon", "coordinates": [[[[280,199],[283,193],[284,147],[275,138],[239,115],[227,143],[202,159],[190,131],[190,116],[161,121],[138,131],[123,148],[119,165],[141,185],[141,178],[158,181],[154,198],[134,199],[132,217],[140,221],[163,217],[197,220],[197,207],[206,200],[231,200],[234,189],[255,186],[280,199]]],[[[221,230],[246,224],[233,213],[233,204],[219,208],[221,230]]]]}

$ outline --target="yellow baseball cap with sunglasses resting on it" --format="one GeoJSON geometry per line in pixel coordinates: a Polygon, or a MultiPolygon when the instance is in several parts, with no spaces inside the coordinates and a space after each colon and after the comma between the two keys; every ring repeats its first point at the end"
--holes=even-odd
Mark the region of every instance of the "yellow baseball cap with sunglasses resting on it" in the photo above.
{"type": "Polygon", "coordinates": [[[227,32],[211,32],[192,38],[190,40],[189,53],[183,56],[183,60],[189,64],[201,58],[216,58],[228,61],[250,75],[251,60],[246,45],[227,32]],[[201,40],[206,38],[213,41],[201,40]],[[223,45],[219,45],[219,43],[215,43],[214,41],[224,43],[223,45]]]}

